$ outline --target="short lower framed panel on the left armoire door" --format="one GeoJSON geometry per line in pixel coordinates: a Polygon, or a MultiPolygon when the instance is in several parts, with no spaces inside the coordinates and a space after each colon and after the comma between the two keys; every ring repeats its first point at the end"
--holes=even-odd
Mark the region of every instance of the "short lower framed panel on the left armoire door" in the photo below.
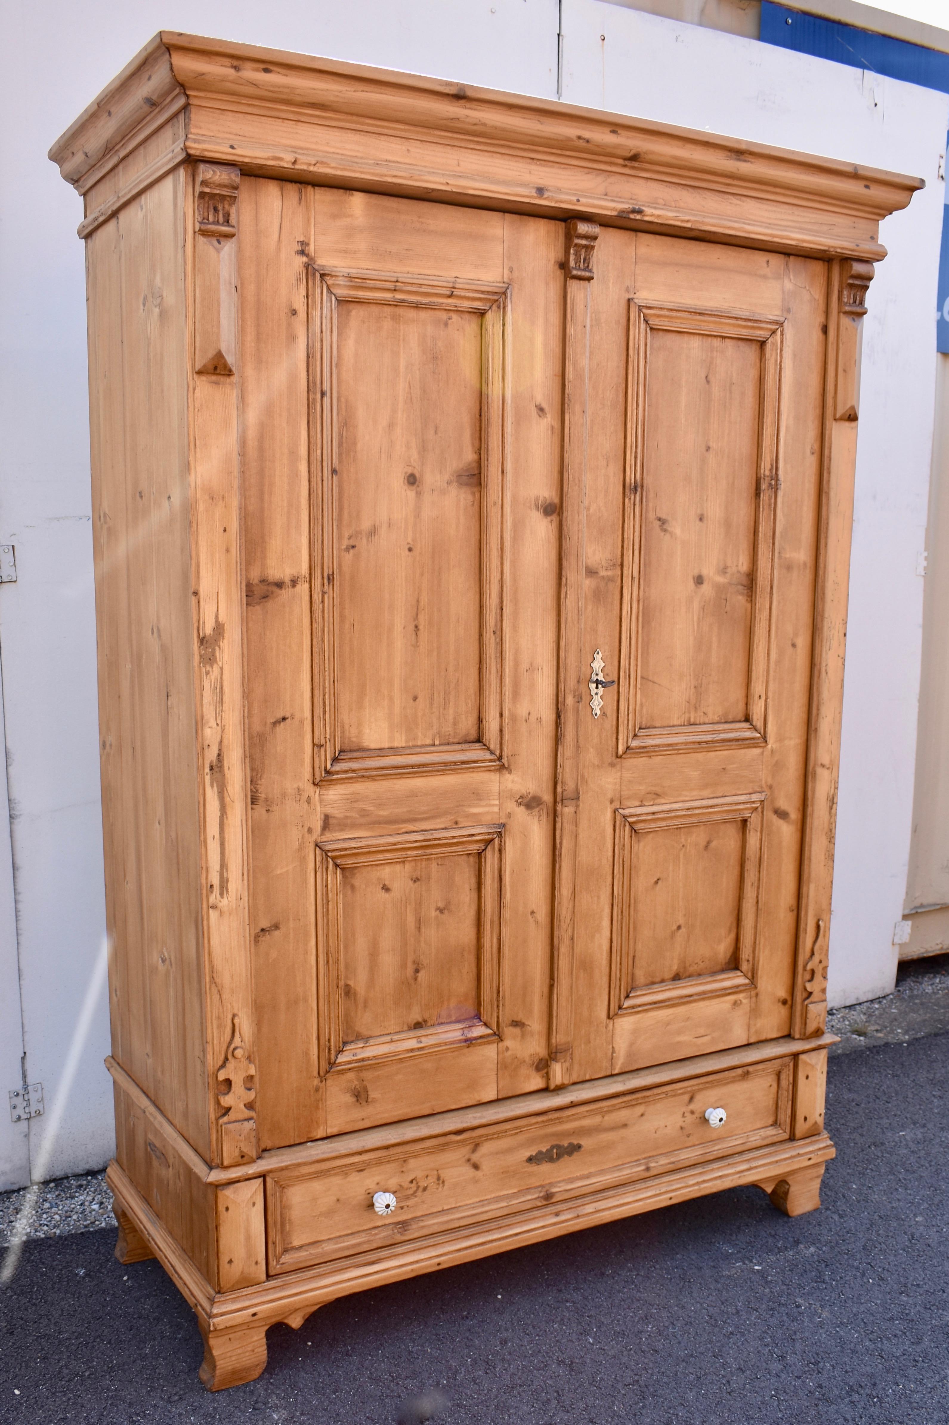
{"type": "Polygon", "coordinates": [[[502,831],[321,842],[322,1073],[496,1036],[502,831]]]}

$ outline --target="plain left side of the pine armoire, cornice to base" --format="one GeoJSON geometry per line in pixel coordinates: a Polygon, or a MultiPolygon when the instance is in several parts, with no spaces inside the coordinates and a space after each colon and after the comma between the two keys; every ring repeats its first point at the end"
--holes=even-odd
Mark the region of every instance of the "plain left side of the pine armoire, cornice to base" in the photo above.
{"type": "Polygon", "coordinates": [[[211,1157],[187,188],[178,168],[88,237],[88,362],[117,1160],[212,1280],[209,1190],[161,1126],[211,1157]]]}

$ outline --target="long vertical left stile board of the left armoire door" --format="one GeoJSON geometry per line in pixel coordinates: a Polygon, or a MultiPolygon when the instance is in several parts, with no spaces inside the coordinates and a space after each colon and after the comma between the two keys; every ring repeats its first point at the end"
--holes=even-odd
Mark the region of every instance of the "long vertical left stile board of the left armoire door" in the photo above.
{"type": "Polygon", "coordinates": [[[325,1131],[316,1070],[306,272],[312,190],[242,180],[239,258],[251,945],[261,1149],[325,1131]],[[278,353],[275,359],[275,353],[278,353]],[[294,657],[286,657],[286,650],[294,657]]]}

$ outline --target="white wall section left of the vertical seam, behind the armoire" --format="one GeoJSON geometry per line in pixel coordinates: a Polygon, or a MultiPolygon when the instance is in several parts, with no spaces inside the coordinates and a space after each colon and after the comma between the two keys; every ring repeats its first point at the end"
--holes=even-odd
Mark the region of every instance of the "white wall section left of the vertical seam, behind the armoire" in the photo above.
{"type": "Polygon", "coordinates": [[[47,1106],[28,1129],[33,1176],[98,1167],[113,1151],[105,995],[87,1002],[104,896],[81,200],[46,154],[162,27],[556,97],[557,0],[4,7],[0,543],[16,544],[19,580],[0,586],[0,651],[20,985],[0,805],[0,1188],[27,1180],[6,1107],[20,1082],[20,995],[27,1073],[47,1106]]]}

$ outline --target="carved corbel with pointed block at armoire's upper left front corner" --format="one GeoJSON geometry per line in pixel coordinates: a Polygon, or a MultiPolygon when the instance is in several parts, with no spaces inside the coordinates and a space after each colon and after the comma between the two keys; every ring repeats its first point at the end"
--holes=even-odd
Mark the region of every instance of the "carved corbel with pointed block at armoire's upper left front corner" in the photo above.
{"type": "Polygon", "coordinates": [[[194,369],[232,376],[237,366],[237,197],[241,170],[195,168],[194,369]]]}

